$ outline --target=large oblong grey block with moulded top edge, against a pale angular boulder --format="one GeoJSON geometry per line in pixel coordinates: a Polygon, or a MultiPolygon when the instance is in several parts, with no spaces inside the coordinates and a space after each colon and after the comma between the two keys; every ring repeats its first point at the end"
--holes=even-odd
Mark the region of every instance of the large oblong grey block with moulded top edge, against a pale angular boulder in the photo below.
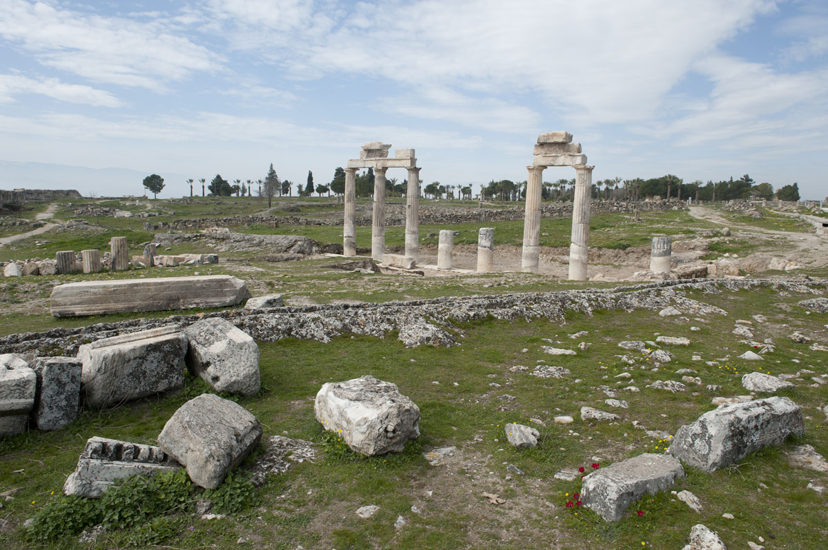
{"type": "Polygon", "coordinates": [[[184,385],[187,337],[176,326],[102,338],[78,348],[81,395],[94,409],[184,385]]]}

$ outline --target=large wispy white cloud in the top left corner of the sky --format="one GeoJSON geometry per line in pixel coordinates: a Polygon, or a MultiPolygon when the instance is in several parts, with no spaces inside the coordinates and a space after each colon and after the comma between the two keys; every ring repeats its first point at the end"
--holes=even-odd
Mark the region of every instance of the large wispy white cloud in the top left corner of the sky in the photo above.
{"type": "Polygon", "coordinates": [[[220,69],[219,56],[176,36],[170,24],[164,18],[136,22],[85,15],[41,2],[0,2],[0,36],[41,64],[96,82],[156,91],[166,89],[165,80],[220,69]]]}

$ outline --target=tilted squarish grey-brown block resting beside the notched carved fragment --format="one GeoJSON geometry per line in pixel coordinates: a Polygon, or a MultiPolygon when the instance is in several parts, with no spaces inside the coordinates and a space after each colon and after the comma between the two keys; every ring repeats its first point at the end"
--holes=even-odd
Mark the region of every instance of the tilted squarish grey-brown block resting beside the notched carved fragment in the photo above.
{"type": "Polygon", "coordinates": [[[247,409],[218,395],[202,394],[167,420],[158,445],[185,466],[195,485],[215,489],[261,438],[262,424],[247,409]]]}

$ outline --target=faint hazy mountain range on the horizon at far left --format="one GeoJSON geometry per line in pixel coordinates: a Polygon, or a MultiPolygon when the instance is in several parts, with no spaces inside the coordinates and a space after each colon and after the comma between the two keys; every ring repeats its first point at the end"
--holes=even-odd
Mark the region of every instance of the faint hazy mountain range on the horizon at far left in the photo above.
{"type": "MultiPolygon", "coordinates": [[[[15,162],[0,160],[0,189],[77,189],[84,197],[141,196],[147,192],[143,180],[150,172],[128,168],[89,168],[87,166],[56,165],[45,162],[15,162]]],[[[167,182],[183,182],[177,174],[161,174],[167,182]]],[[[171,186],[161,191],[163,196],[189,194],[185,185],[171,186]],[[172,189],[181,192],[172,193],[172,189]],[[169,192],[168,192],[169,191],[169,192]]]]}

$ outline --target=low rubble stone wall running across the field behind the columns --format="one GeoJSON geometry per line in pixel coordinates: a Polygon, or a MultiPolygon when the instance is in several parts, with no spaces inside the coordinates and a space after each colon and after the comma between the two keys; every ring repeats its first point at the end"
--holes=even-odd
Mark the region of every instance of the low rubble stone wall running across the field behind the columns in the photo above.
{"type": "MultiPolygon", "coordinates": [[[[515,208],[450,208],[435,205],[420,207],[421,225],[455,225],[458,223],[475,222],[508,222],[522,220],[525,214],[523,203],[516,203],[520,206],[515,208]]],[[[385,214],[385,225],[405,225],[406,205],[404,203],[387,203],[385,214]]],[[[638,209],[640,211],[663,212],[665,210],[686,209],[684,201],[658,200],[642,202],[625,201],[597,201],[591,205],[592,213],[628,213],[632,214],[638,209]]],[[[370,204],[360,204],[359,210],[365,214],[358,215],[354,222],[359,226],[370,226],[370,204]]],[[[541,216],[543,218],[571,217],[572,203],[542,203],[541,216]]],[[[152,226],[152,229],[203,229],[205,227],[233,227],[250,225],[320,225],[320,226],[341,226],[342,218],[331,219],[310,219],[299,216],[233,216],[229,218],[194,218],[175,220],[169,224],[159,223],[152,226]]]]}

